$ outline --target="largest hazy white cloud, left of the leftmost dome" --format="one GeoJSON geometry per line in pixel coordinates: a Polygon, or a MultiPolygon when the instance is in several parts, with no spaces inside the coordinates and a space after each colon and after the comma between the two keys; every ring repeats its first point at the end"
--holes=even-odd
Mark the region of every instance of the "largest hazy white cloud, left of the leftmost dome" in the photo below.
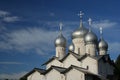
{"type": "Polygon", "coordinates": [[[0,42],[1,50],[17,50],[27,52],[33,50],[38,54],[53,51],[55,31],[40,28],[29,28],[16,30],[4,35],[5,40],[0,42]]]}

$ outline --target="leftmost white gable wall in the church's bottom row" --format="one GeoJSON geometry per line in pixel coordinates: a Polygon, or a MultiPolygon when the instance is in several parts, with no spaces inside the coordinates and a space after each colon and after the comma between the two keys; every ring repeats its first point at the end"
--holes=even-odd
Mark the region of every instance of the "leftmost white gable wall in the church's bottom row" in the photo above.
{"type": "Polygon", "coordinates": [[[38,71],[35,71],[27,77],[27,80],[45,80],[44,75],[41,75],[38,71]]]}

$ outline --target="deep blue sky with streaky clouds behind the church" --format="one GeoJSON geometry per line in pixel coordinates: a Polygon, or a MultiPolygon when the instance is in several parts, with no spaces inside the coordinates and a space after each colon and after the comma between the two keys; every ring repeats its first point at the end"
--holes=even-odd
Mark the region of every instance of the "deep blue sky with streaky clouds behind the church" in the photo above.
{"type": "Polygon", "coordinates": [[[79,26],[79,11],[99,38],[99,27],[116,59],[120,52],[119,0],[0,0],[0,78],[19,78],[55,55],[54,40],[63,23],[67,45],[79,26]]]}

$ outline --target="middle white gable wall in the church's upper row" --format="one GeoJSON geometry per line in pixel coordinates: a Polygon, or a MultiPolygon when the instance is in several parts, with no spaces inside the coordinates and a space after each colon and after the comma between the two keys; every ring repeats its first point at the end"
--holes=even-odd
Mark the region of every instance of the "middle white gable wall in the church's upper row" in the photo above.
{"type": "Polygon", "coordinates": [[[64,61],[63,61],[63,65],[65,68],[70,67],[71,65],[75,65],[80,67],[81,66],[81,62],[78,61],[72,54],[70,54],[64,61]]]}

